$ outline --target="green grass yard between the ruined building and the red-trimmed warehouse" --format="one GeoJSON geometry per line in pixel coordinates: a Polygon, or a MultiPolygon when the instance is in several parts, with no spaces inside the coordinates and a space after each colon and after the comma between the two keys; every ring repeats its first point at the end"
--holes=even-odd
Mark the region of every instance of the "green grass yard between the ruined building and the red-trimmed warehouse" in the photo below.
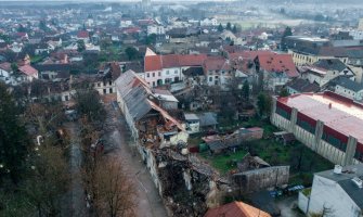
{"type": "Polygon", "coordinates": [[[296,141],[293,144],[284,145],[271,137],[272,132],[278,129],[267,122],[260,122],[252,118],[248,122],[238,123],[238,126],[231,124],[231,129],[241,127],[261,127],[264,129],[264,138],[241,145],[241,150],[232,154],[210,155],[209,153],[200,153],[211,166],[221,174],[226,174],[231,169],[235,169],[236,165],[231,164],[233,161],[241,161],[247,152],[252,155],[260,156],[272,166],[289,165],[290,166],[290,183],[309,186],[312,182],[313,174],[333,168],[333,164],[320,156],[302,143],[296,141]]]}

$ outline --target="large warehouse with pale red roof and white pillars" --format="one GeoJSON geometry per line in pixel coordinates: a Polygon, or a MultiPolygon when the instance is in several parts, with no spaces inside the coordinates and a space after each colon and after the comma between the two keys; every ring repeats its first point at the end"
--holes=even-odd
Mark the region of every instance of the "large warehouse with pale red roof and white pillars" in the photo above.
{"type": "Polygon", "coordinates": [[[274,98],[271,122],[334,164],[363,162],[363,104],[329,91],[274,98]]]}

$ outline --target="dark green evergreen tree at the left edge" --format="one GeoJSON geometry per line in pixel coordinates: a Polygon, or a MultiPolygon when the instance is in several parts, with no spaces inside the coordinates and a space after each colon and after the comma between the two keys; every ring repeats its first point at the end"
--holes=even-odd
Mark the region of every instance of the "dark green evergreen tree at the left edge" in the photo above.
{"type": "Polygon", "coordinates": [[[20,110],[7,86],[0,82],[0,181],[10,176],[20,181],[29,149],[26,129],[20,122],[20,110]]]}

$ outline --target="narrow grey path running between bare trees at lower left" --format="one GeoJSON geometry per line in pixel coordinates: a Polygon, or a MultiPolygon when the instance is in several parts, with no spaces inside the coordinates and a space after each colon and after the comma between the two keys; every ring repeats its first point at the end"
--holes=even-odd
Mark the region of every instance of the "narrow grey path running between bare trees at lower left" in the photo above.
{"type": "Polygon", "coordinates": [[[67,123],[66,128],[69,130],[70,136],[70,157],[69,157],[69,169],[72,177],[70,190],[68,192],[68,212],[65,212],[63,216],[67,217],[86,217],[88,210],[86,207],[83,186],[81,180],[81,161],[82,152],[80,149],[79,141],[79,129],[76,123],[67,123]]]}

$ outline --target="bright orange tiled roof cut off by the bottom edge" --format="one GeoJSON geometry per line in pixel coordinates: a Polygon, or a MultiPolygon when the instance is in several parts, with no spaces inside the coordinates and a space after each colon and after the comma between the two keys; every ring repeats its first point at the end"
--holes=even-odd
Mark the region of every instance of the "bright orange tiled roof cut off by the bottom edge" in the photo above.
{"type": "Polygon", "coordinates": [[[270,214],[260,210],[243,202],[232,202],[217,208],[210,208],[205,217],[271,217],[270,214]]]}

